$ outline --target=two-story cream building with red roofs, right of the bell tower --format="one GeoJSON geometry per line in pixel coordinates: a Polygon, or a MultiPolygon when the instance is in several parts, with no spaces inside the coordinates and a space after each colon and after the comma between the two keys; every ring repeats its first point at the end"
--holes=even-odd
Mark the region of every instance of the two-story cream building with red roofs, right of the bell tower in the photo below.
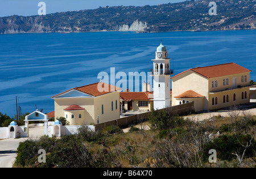
{"type": "Polygon", "coordinates": [[[236,63],[183,71],[171,78],[172,105],[194,101],[198,112],[249,103],[250,71],[236,63]]]}

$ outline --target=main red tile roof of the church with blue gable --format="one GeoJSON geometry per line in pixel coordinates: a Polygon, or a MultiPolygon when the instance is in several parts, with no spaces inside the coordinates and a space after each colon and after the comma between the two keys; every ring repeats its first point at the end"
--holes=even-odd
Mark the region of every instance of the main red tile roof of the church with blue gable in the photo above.
{"type": "MultiPolygon", "coordinates": [[[[81,87],[75,87],[75,88],[72,88],[68,91],[71,91],[71,90],[77,90],[77,91],[80,91],[80,92],[84,92],[88,95],[92,95],[92,96],[101,96],[101,95],[105,95],[107,93],[110,93],[110,92],[114,92],[114,91],[118,91],[118,90],[121,90],[122,88],[118,88],[118,87],[115,87],[115,86],[112,86],[108,83],[104,83],[104,82],[98,82],[98,83],[93,83],[93,84],[88,84],[86,86],[81,86],[81,87]],[[105,90],[106,88],[106,90],[105,90]]],[[[62,93],[59,93],[58,95],[55,95],[55,96],[52,96],[53,97],[56,97],[56,96],[59,96],[63,93],[66,93],[68,91],[64,91],[62,93]]]]}

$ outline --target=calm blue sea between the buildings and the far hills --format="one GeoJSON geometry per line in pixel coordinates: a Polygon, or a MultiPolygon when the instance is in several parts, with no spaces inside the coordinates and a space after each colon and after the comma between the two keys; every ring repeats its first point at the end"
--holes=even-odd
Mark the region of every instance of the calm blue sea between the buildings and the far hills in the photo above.
{"type": "Polygon", "coordinates": [[[256,31],[92,32],[0,35],[0,112],[54,110],[52,96],[99,81],[101,71],[147,73],[160,42],[174,74],[235,62],[256,81],[256,31]]]}

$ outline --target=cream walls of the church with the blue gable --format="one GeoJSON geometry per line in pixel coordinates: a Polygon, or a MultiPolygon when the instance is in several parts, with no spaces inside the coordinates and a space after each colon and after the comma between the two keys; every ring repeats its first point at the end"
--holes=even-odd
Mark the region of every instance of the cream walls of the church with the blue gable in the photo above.
{"type": "Polygon", "coordinates": [[[97,116],[99,122],[106,122],[120,117],[120,103],[119,92],[111,92],[97,97],[84,97],[84,98],[63,98],[55,99],[55,118],[65,117],[68,114],[67,120],[70,125],[90,125],[90,123],[97,123],[97,116]],[[115,100],[117,100],[117,109],[115,109],[115,100]],[[113,101],[113,111],[112,111],[113,101]],[[79,105],[85,110],[78,111],[64,111],[70,105],[79,105]],[[104,105],[104,114],[101,112],[101,106],[104,105]],[[75,118],[71,118],[72,114],[75,118]],[[79,118],[79,114],[82,115],[79,118]]]}

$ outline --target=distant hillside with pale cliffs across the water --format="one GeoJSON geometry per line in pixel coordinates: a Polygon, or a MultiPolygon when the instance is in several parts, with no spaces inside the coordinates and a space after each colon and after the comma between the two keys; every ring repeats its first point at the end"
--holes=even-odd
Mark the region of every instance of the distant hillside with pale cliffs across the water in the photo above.
{"type": "Polygon", "coordinates": [[[211,0],[157,6],[114,6],[0,18],[0,33],[95,31],[201,31],[255,29],[256,0],[215,0],[217,15],[209,15],[211,0]]]}

